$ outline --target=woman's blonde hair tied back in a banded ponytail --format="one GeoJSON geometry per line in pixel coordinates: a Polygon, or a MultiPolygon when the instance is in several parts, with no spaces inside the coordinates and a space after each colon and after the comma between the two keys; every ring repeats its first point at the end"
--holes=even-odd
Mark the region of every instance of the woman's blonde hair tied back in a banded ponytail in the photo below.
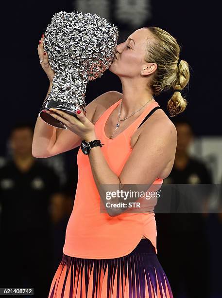
{"type": "MultiPolygon", "coordinates": [[[[176,39],[167,31],[158,27],[146,27],[150,30],[153,38],[147,44],[146,62],[157,64],[150,83],[152,92],[158,95],[161,91],[169,90],[171,87],[183,90],[189,82],[189,65],[181,60],[177,66],[180,54],[180,46],[176,39]]],[[[168,111],[174,117],[186,109],[188,102],[180,92],[174,92],[167,103],[168,111]]]]}

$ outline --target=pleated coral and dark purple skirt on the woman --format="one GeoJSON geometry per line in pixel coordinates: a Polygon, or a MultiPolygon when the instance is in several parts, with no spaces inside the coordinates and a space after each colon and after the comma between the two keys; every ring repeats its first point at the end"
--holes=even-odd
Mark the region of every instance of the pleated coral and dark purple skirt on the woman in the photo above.
{"type": "Polygon", "coordinates": [[[63,254],[48,298],[173,298],[153,244],[141,239],[128,255],[82,259],[63,254]]]}

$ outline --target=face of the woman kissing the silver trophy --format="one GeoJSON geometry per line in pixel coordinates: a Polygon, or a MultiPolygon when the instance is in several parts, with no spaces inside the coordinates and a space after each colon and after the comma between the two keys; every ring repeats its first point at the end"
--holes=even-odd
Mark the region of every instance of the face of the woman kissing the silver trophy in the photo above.
{"type": "Polygon", "coordinates": [[[139,77],[147,67],[144,60],[148,39],[151,38],[149,29],[141,28],[133,32],[125,42],[117,45],[116,57],[109,70],[119,77],[139,77]]]}

